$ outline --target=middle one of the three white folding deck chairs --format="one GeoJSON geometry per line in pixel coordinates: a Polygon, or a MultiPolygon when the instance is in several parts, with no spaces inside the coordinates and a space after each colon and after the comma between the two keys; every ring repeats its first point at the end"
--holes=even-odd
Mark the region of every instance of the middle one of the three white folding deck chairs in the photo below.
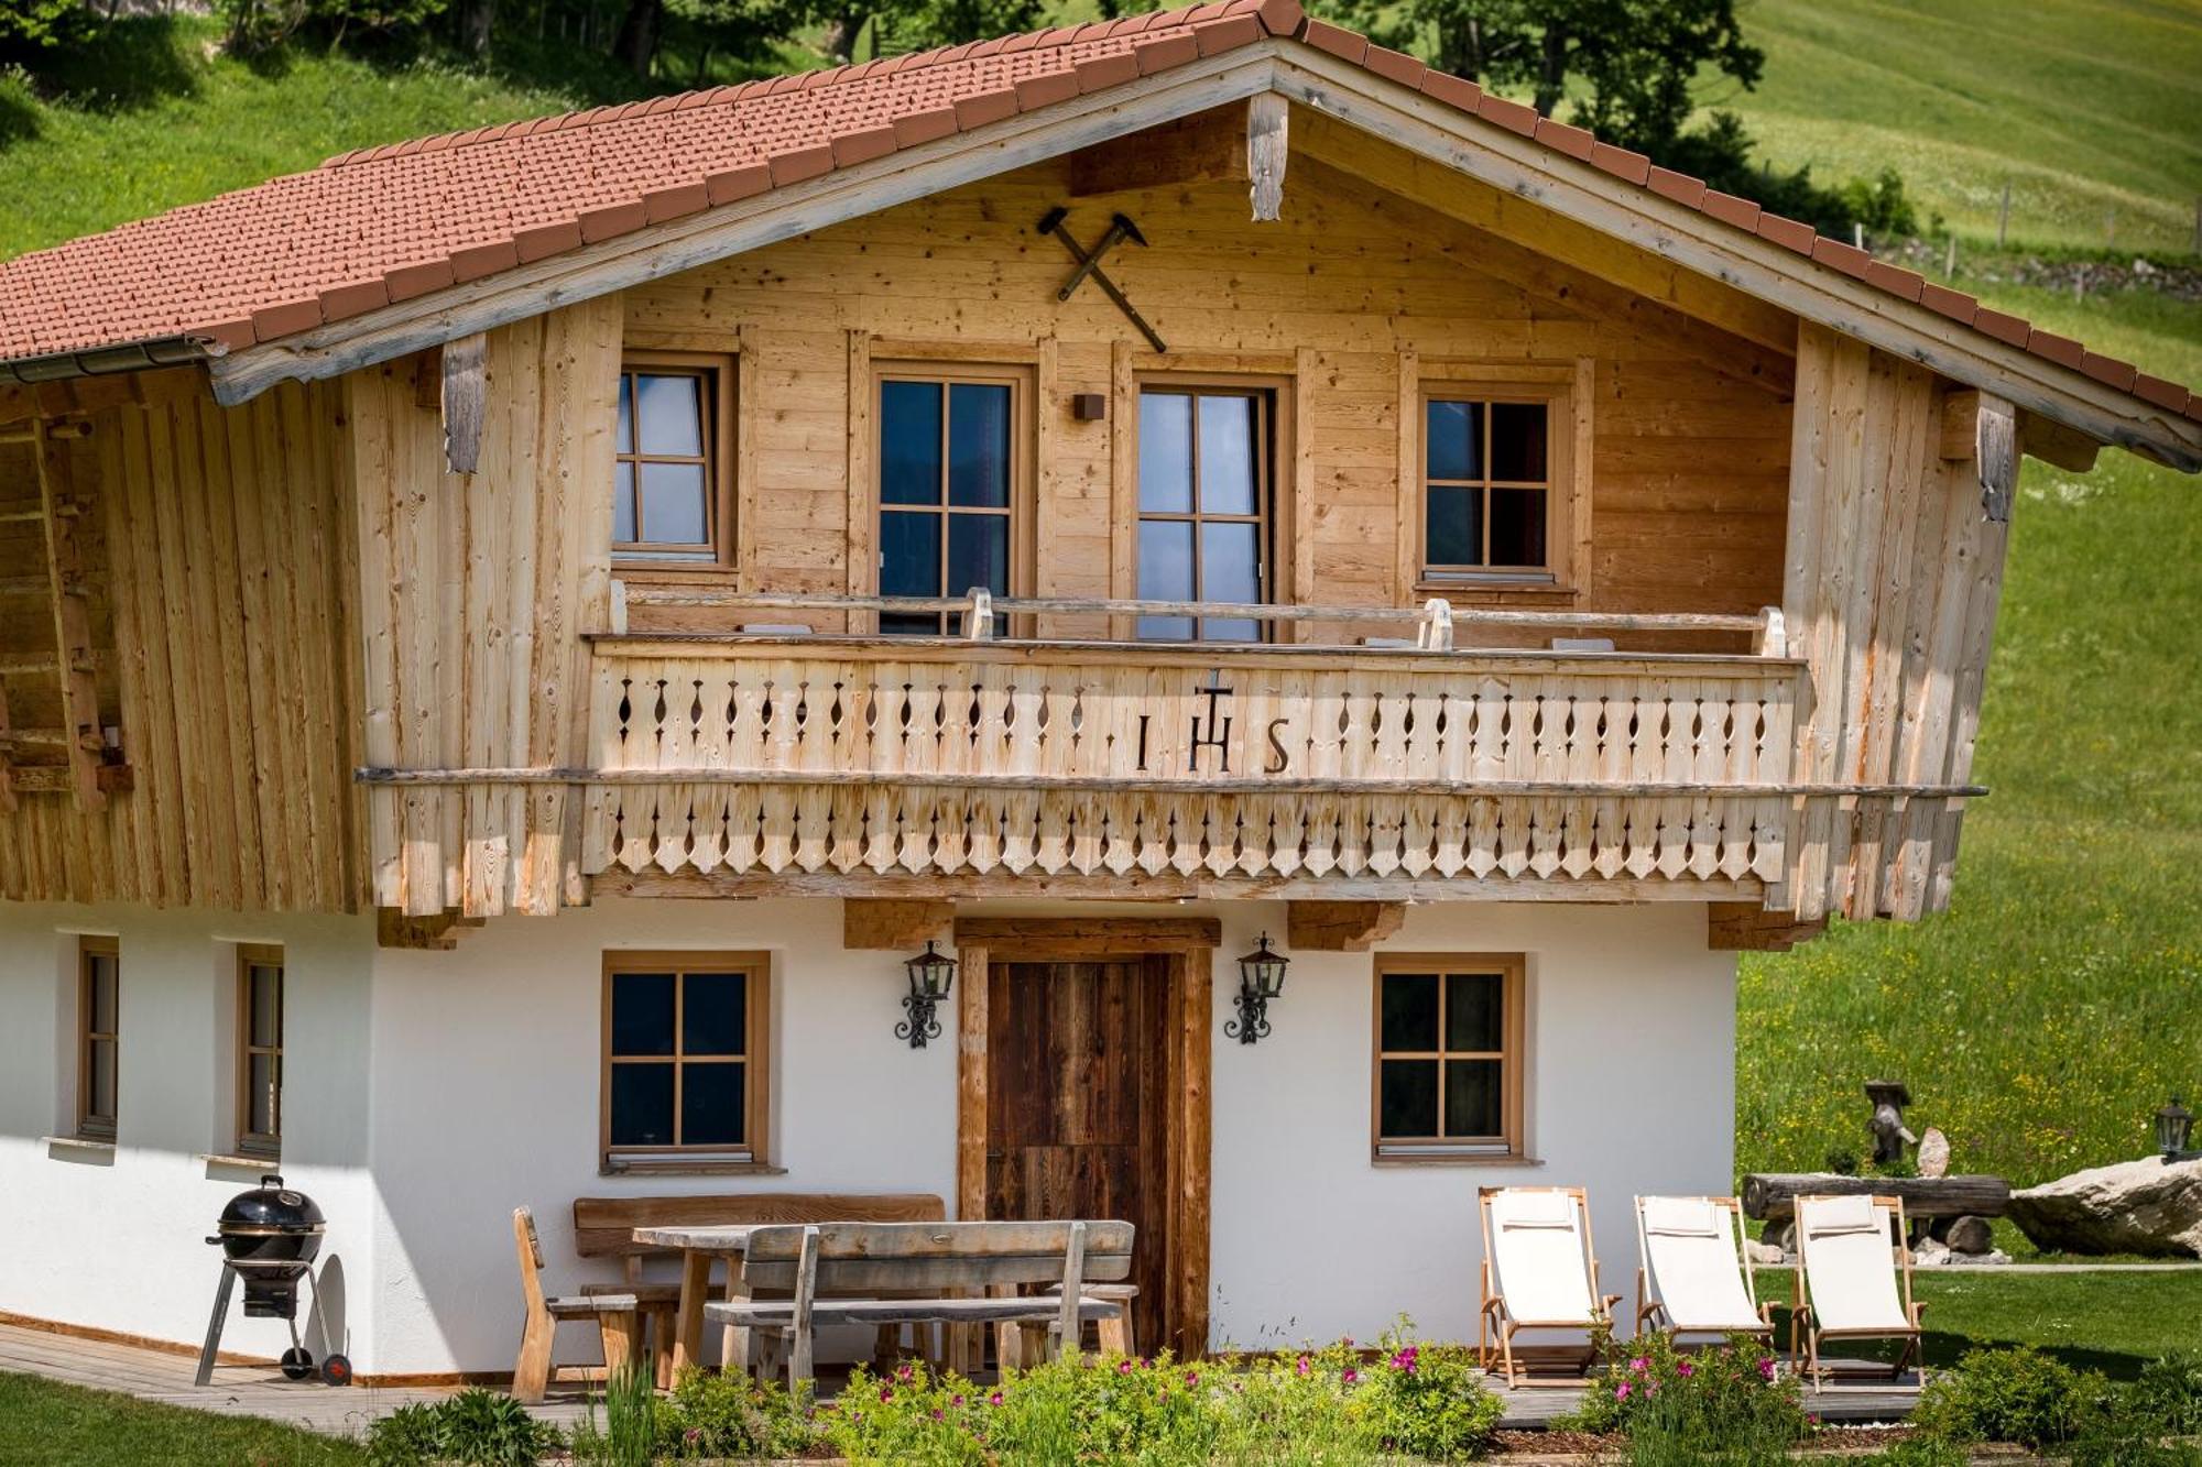
{"type": "Polygon", "coordinates": [[[1636,1198],[1636,1333],[1762,1335],[1773,1344],[1773,1302],[1762,1304],[1733,1196],[1636,1198]]]}

